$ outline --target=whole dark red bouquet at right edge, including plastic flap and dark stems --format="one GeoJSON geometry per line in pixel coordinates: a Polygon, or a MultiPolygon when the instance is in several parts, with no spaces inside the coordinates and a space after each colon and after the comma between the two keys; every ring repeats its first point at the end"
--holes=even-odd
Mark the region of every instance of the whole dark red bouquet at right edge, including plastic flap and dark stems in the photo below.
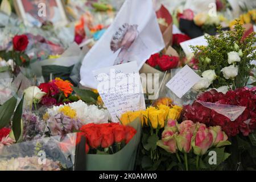
{"type": "Polygon", "coordinates": [[[228,169],[256,168],[255,87],[229,90],[226,94],[210,90],[199,95],[192,105],[184,106],[183,116],[207,126],[221,126],[232,140],[228,169]]]}

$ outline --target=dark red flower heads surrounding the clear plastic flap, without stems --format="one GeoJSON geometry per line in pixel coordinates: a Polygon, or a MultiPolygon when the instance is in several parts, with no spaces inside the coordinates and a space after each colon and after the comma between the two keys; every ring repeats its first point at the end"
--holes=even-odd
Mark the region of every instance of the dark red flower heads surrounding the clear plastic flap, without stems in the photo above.
{"type": "Polygon", "coordinates": [[[253,89],[241,88],[230,90],[226,94],[218,93],[216,90],[210,90],[197,97],[197,101],[246,107],[243,113],[234,121],[201,105],[197,101],[193,102],[192,105],[184,106],[183,116],[185,119],[205,123],[208,126],[219,125],[229,136],[236,136],[240,132],[244,136],[247,136],[256,129],[255,92],[256,87],[253,89]]]}

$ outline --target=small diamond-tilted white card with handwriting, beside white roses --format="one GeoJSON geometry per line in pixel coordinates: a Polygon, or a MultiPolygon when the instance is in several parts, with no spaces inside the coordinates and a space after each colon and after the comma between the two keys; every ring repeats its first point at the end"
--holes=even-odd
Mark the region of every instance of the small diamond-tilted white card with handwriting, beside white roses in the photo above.
{"type": "Polygon", "coordinates": [[[200,80],[200,76],[196,74],[188,65],[185,65],[179,72],[176,73],[166,86],[181,98],[193,85],[200,80]]]}

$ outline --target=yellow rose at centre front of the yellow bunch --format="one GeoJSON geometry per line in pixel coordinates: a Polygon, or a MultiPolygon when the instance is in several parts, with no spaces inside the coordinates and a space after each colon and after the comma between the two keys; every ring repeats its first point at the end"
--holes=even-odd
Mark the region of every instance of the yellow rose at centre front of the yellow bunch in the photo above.
{"type": "Polygon", "coordinates": [[[148,109],[148,119],[151,123],[151,126],[154,129],[156,129],[158,125],[160,125],[160,128],[164,127],[164,110],[154,109],[154,107],[149,107],[148,109]]]}

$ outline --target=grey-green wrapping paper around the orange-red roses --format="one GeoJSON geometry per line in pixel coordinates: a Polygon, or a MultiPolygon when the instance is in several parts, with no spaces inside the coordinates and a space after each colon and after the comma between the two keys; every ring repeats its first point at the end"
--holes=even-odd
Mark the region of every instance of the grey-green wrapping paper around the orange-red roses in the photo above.
{"type": "Polygon", "coordinates": [[[129,124],[137,130],[133,139],[115,154],[87,154],[87,171],[131,171],[134,169],[138,146],[141,140],[141,121],[135,119],[129,124]]]}

